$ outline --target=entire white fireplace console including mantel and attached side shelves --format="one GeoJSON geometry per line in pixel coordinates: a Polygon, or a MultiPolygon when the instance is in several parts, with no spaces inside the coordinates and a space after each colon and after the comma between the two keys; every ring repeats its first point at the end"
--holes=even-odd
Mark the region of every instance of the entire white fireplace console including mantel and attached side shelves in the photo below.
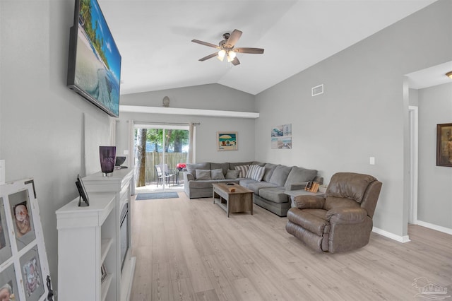
{"type": "MultiPolygon", "coordinates": [[[[102,172],[97,172],[93,175],[89,175],[83,178],[83,184],[90,199],[90,206],[88,207],[78,207],[78,198],[68,205],[57,211],[58,220],[58,230],[59,230],[59,300],[129,300],[131,293],[131,284],[133,281],[133,273],[135,271],[135,258],[131,257],[131,210],[130,210],[130,195],[131,195],[131,185],[133,177],[133,171],[131,169],[121,169],[114,170],[111,176],[104,177],[102,172]],[[112,205],[107,205],[105,196],[110,196],[112,198],[112,205]],[[91,210],[96,210],[98,206],[104,204],[104,209],[102,213],[99,211],[99,222],[94,228],[97,230],[87,229],[90,225],[85,221],[88,216],[90,216],[91,210]],[[111,209],[109,207],[112,206],[111,209]],[[69,210],[69,216],[77,216],[73,218],[73,221],[69,222],[71,219],[66,215],[66,211],[69,210]],[[124,219],[124,213],[128,210],[128,215],[124,219]],[[107,217],[103,219],[100,216],[105,216],[105,212],[109,211],[107,217]],[[121,214],[122,213],[122,214],[121,214]],[[88,216],[85,216],[88,215],[88,216]],[[66,218],[63,218],[66,216],[66,218]],[[66,220],[68,219],[68,220],[66,220]],[[65,227],[60,227],[62,221],[66,220],[65,227]],[[124,220],[124,222],[123,222],[124,220]],[[121,227],[121,223],[123,227],[121,227]],[[69,230],[70,225],[73,224],[73,229],[69,230]],[[92,234],[94,232],[95,234],[92,234]],[[96,247],[93,245],[101,245],[102,251],[99,252],[100,258],[97,258],[96,254],[84,254],[88,258],[87,263],[83,258],[78,259],[78,253],[80,252],[80,247],[74,247],[76,244],[72,243],[63,245],[63,243],[69,242],[73,237],[76,240],[92,240],[88,244],[89,247],[85,247],[87,253],[97,252],[96,247]],[[128,249],[125,248],[128,246],[128,249]],[[90,250],[88,252],[88,250],[90,250]],[[66,253],[66,254],[63,254],[66,253]],[[105,256],[105,261],[102,260],[105,256]],[[78,260],[75,260],[77,258],[78,260]],[[123,261],[124,260],[124,261],[123,261]],[[63,262],[64,261],[64,262],[63,262]],[[66,261],[72,261],[71,264],[66,263],[66,261]],[[80,262],[76,262],[80,261],[80,262]],[[107,270],[107,279],[102,282],[102,288],[100,288],[100,276],[101,276],[101,266],[102,261],[105,263],[105,268],[107,270]],[[83,264],[81,264],[83,262],[83,264]],[[69,266],[76,268],[76,270],[66,270],[62,269],[63,266],[69,266]],[[88,268],[83,268],[87,266],[88,268]],[[94,271],[93,271],[94,268],[94,271]],[[63,273],[63,275],[61,275],[63,273]],[[71,273],[71,276],[65,277],[65,273],[71,273]],[[88,286],[79,285],[85,283],[93,277],[93,284],[88,286]],[[66,284],[66,281],[69,281],[66,284]],[[61,286],[62,285],[62,286],[61,286]],[[66,290],[70,285],[71,290],[74,293],[66,296],[66,290]],[[76,291],[85,291],[88,295],[93,297],[81,297],[80,294],[76,295],[76,291]],[[100,292],[100,293],[99,293],[100,292]]],[[[99,209],[100,210],[100,209],[99,209]]]]}

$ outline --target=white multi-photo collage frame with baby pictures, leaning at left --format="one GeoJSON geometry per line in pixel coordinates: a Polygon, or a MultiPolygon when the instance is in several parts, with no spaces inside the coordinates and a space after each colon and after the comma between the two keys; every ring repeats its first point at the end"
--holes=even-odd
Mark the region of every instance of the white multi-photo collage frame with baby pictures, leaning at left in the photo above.
{"type": "Polygon", "coordinates": [[[35,182],[0,185],[0,293],[6,300],[52,300],[35,182]],[[2,295],[3,296],[3,295],[2,295]]]}

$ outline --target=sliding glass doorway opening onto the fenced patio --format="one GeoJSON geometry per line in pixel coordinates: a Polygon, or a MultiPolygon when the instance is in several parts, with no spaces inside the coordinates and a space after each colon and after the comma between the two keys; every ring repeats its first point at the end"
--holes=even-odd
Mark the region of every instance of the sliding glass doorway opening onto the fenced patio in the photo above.
{"type": "Polygon", "coordinates": [[[135,124],[133,129],[136,193],[183,191],[189,153],[189,126],[135,124]]]}

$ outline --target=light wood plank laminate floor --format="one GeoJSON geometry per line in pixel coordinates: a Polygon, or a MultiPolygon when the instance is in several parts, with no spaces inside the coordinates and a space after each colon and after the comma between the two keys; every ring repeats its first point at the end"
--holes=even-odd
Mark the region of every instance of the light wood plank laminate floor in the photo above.
{"type": "Polygon", "coordinates": [[[424,300],[420,277],[452,295],[452,235],[417,225],[405,244],[372,233],[362,249],[319,254],[259,206],[227,218],[211,198],[179,192],[132,200],[132,217],[131,301],[424,300]]]}

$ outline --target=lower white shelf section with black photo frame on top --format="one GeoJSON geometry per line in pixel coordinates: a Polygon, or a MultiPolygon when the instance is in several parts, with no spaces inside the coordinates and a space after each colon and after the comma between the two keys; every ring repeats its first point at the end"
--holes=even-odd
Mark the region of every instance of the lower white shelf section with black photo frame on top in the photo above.
{"type": "Polygon", "coordinates": [[[78,207],[77,198],[57,210],[59,300],[117,300],[115,201],[113,193],[90,194],[90,206],[78,207]]]}

